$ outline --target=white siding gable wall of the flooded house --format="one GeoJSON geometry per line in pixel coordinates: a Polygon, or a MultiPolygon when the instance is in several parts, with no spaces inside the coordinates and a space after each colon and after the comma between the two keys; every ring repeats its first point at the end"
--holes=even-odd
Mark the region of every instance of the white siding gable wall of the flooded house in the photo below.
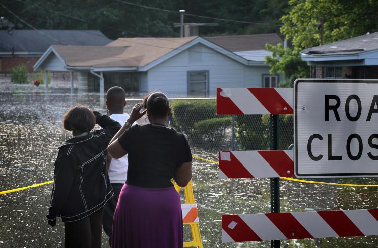
{"type": "MultiPolygon", "coordinates": [[[[187,95],[187,71],[209,71],[209,95],[217,87],[261,87],[269,66],[245,66],[202,44],[197,44],[148,71],[148,91],[187,95]]],[[[142,84],[143,85],[143,84],[142,84]]]]}

